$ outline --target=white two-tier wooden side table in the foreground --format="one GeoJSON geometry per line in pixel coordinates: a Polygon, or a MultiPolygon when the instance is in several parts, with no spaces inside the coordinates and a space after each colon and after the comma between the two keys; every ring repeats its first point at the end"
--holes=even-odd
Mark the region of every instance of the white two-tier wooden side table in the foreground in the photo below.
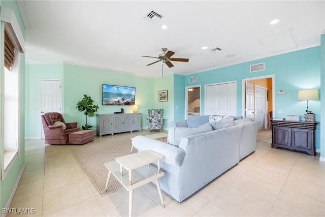
{"type": "Polygon", "coordinates": [[[165,208],[158,180],[158,178],[164,176],[165,174],[164,172],[160,171],[160,160],[163,160],[164,158],[164,156],[152,150],[145,150],[122,156],[116,158],[115,161],[105,163],[105,167],[109,170],[105,190],[107,190],[110,176],[113,174],[114,177],[123,185],[126,191],[129,192],[129,216],[132,216],[133,190],[146,183],[149,183],[152,180],[156,181],[161,204],[163,204],[163,207],[165,208]],[[149,164],[153,162],[157,162],[158,168],[149,166],[149,164]]]}

